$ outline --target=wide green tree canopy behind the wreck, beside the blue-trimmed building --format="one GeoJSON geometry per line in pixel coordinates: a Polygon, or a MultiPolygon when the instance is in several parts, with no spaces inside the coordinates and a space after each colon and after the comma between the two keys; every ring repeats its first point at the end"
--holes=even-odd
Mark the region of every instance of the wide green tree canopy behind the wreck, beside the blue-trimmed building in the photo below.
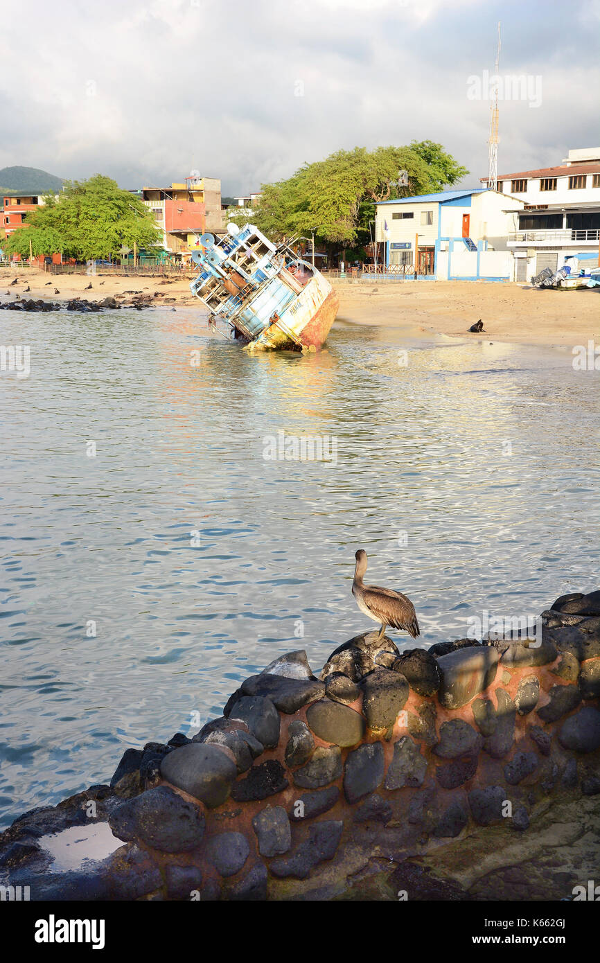
{"type": "Polygon", "coordinates": [[[271,238],[314,231],[330,244],[364,244],[376,201],[440,191],[467,173],[441,143],[432,141],[372,151],[338,150],[323,161],[305,164],[285,181],[263,185],[252,221],[271,238]],[[398,186],[400,170],[408,174],[407,187],[398,186]]]}

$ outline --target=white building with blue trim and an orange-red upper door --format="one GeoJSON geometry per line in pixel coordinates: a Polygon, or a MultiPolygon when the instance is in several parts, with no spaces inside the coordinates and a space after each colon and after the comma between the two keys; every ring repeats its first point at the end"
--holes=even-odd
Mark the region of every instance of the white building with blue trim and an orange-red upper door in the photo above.
{"type": "Polygon", "coordinates": [[[379,201],[376,238],[385,272],[438,280],[514,280],[507,245],[525,202],[487,188],[379,201]]]}

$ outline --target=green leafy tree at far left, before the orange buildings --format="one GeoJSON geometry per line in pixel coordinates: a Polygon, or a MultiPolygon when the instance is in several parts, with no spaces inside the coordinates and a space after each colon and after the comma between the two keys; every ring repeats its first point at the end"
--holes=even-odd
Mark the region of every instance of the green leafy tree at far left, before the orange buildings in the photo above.
{"type": "Polygon", "coordinates": [[[29,256],[61,251],[78,260],[115,255],[123,245],[150,247],[160,241],[151,212],[142,200],[122,191],[110,177],[96,174],[87,181],[68,181],[57,200],[46,195],[28,226],[14,231],[4,245],[7,253],[29,256]]]}

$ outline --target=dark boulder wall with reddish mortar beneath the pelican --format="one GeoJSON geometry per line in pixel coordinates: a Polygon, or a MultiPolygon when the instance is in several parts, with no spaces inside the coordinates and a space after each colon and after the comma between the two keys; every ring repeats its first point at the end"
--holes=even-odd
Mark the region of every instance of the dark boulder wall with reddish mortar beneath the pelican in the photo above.
{"type": "Polygon", "coordinates": [[[320,678],[282,656],[193,739],[128,749],[110,785],[16,820],[0,882],[37,899],[572,898],[600,872],[600,591],[542,619],[541,638],[402,654],[356,636],[320,678]],[[86,825],[117,848],[56,872],[44,841],[86,825]]]}

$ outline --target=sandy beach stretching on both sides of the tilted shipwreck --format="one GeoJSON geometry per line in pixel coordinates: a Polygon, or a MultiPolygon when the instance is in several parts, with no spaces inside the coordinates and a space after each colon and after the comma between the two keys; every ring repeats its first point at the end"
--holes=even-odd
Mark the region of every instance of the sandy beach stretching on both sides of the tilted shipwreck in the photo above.
{"type": "MultiPolygon", "coordinates": [[[[193,274],[164,275],[48,274],[13,268],[0,270],[0,304],[20,298],[66,301],[131,299],[149,296],[153,306],[201,305],[190,293],[193,274]],[[12,284],[14,278],[16,284],[12,284]],[[89,285],[91,284],[91,289],[89,285]],[[30,291],[27,292],[26,288],[30,291]],[[55,289],[58,294],[55,294],[55,289]]],[[[338,319],[355,325],[412,325],[423,333],[449,337],[470,334],[480,318],[484,334],[516,344],[571,346],[598,337],[600,289],[552,291],[522,284],[474,281],[333,281],[340,299],[338,319]]]]}

